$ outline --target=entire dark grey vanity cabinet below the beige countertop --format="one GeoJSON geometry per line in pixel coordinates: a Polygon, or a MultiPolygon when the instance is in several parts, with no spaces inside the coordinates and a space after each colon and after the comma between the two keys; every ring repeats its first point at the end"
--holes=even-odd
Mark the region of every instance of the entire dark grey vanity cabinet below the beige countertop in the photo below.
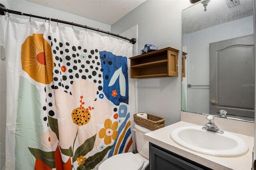
{"type": "Polygon", "coordinates": [[[149,154],[150,170],[210,170],[152,143],[149,144],[149,154]]]}

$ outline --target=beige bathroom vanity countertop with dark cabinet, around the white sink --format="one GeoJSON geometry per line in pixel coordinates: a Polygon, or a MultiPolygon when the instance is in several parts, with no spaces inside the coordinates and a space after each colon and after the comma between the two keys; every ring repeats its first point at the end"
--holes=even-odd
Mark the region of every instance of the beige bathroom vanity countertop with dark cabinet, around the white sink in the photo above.
{"type": "MultiPolygon", "coordinates": [[[[249,146],[248,152],[243,154],[242,156],[234,156],[234,157],[218,157],[218,156],[211,156],[207,154],[202,154],[199,152],[194,152],[190,149],[184,148],[174,142],[170,137],[170,133],[179,127],[186,127],[186,126],[199,126],[203,127],[206,115],[199,115],[193,113],[185,113],[182,112],[182,117],[186,117],[187,119],[194,121],[194,123],[185,122],[186,119],[181,119],[182,121],[175,123],[173,125],[169,125],[164,128],[160,128],[153,132],[149,132],[144,135],[144,139],[150,142],[150,168],[151,170],[160,170],[164,169],[164,167],[175,167],[177,169],[215,169],[215,170],[250,170],[252,166],[252,149],[254,146],[254,138],[253,131],[254,131],[254,123],[242,122],[238,121],[239,123],[244,123],[241,126],[233,126],[233,130],[231,133],[240,137],[246,144],[249,146]],[[191,119],[190,119],[190,118],[191,119]],[[200,122],[201,121],[201,122],[200,122]],[[197,125],[196,125],[197,124],[197,125]],[[199,124],[199,125],[198,125],[199,124]],[[245,134],[238,134],[239,127],[248,128],[248,132],[245,134]],[[236,133],[234,133],[236,132],[236,133]]],[[[230,121],[235,120],[228,120],[226,119],[226,124],[221,124],[223,119],[219,118],[216,119],[216,125],[224,132],[227,132],[230,126],[230,121]]],[[[225,120],[224,120],[225,121],[225,120]]],[[[210,140],[210,139],[209,139],[210,140]]]]}

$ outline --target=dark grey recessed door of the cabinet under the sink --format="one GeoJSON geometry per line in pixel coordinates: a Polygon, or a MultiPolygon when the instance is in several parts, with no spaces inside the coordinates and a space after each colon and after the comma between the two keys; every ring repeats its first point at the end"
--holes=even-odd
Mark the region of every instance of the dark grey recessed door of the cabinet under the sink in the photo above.
{"type": "Polygon", "coordinates": [[[150,146],[150,161],[151,170],[203,170],[154,146],[150,146]]]}

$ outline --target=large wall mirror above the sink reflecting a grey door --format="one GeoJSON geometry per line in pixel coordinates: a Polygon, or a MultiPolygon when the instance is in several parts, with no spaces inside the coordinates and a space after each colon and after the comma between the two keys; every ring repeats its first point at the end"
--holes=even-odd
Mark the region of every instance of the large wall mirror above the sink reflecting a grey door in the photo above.
{"type": "Polygon", "coordinates": [[[182,11],[182,111],[254,121],[252,0],[204,0],[182,11]]]}

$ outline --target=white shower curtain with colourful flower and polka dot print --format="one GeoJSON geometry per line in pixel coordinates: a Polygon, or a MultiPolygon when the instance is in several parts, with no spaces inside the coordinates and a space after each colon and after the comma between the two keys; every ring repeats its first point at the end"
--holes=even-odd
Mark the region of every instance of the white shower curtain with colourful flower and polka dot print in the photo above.
{"type": "Polygon", "coordinates": [[[90,170],[132,150],[132,44],[1,17],[7,67],[7,170],[90,170]]]}

